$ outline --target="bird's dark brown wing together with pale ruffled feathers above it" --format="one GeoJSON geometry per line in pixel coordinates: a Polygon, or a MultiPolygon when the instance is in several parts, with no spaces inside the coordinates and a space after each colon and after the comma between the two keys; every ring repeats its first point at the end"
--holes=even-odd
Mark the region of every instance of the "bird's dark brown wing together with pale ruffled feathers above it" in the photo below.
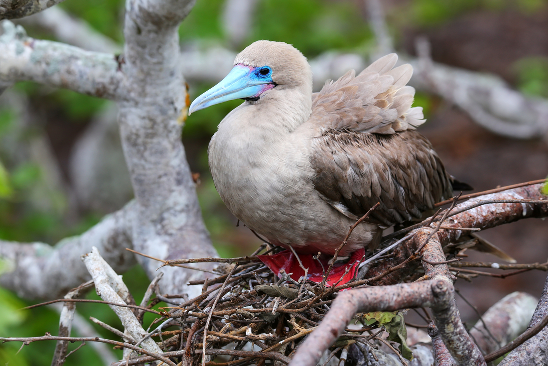
{"type": "Polygon", "coordinates": [[[350,71],[313,95],[311,163],[319,195],[349,218],[375,203],[379,224],[420,218],[452,195],[451,178],[430,142],[412,131],[424,122],[412,108],[410,65],[392,68],[397,55],[375,61],[358,76],[350,71]]]}

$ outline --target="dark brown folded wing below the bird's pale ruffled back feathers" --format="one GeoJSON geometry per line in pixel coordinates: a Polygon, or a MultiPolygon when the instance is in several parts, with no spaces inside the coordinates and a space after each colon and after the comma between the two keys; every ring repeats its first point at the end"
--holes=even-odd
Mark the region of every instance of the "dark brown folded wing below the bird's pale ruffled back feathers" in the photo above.
{"type": "Polygon", "coordinates": [[[312,139],[316,191],[335,209],[391,226],[420,219],[452,195],[451,179],[430,142],[416,131],[390,135],[326,130],[312,139]]]}

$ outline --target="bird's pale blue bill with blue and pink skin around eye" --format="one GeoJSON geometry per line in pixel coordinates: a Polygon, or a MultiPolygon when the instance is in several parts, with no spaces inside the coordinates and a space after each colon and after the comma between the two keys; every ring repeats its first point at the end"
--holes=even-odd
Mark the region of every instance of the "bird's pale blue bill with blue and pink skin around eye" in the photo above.
{"type": "Polygon", "coordinates": [[[275,86],[276,83],[272,81],[272,68],[269,66],[253,67],[238,64],[219,84],[192,102],[189,116],[192,112],[227,100],[258,100],[262,93],[275,86]]]}

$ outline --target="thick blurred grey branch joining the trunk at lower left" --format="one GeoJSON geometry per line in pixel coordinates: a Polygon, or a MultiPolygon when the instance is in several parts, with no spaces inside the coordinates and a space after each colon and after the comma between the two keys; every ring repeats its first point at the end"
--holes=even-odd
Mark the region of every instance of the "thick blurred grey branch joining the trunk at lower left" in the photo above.
{"type": "Polygon", "coordinates": [[[55,247],[0,241],[0,258],[12,268],[2,273],[0,284],[22,298],[62,298],[90,278],[79,257],[94,246],[118,272],[127,271],[135,264],[134,255],[125,250],[132,247],[134,206],[134,202],[127,204],[82,235],[66,238],[55,247]]]}

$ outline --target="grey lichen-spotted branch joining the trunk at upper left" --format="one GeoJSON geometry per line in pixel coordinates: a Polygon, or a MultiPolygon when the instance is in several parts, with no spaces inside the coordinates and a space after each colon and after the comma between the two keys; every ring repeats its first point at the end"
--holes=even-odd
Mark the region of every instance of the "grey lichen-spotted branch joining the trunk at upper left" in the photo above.
{"type": "Polygon", "coordinates": [[[2,26],[0,87],[35,81],[100,98],[123,98],[123,74],[113,55],[33,39],[10,21],[2,26]]]}

